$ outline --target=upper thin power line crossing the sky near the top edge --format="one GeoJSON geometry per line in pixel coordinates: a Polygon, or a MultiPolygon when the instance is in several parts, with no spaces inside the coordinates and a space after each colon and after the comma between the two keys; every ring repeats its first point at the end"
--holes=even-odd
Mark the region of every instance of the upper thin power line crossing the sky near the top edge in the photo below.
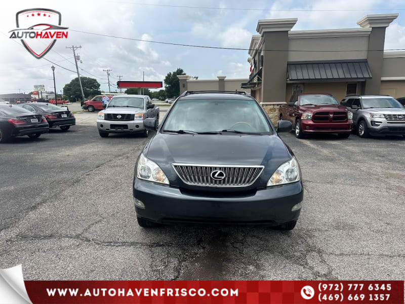
{"type": "Polygon", "coordinates": [[[105,0],[106,2],[134,4],[151,7],[169,7],[169,8],[182,8],[182,9],[206,9],[206,10],[229,10],[229,11],[258,11],[258,12],[369,12],[369,11],[403,11],[405,9],[345,9],[345,10],[310,10],[310,9],[251,9],[251,8],[219,8],[219,7],[196,7],[184,5],[168,5],[168,4],[150,4],[139,3],[130,1],[112,1],[105,0]]]}

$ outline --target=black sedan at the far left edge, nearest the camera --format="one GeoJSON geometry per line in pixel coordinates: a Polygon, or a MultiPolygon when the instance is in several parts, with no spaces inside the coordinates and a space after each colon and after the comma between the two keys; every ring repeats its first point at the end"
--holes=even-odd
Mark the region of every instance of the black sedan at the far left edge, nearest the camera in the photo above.
{"type": "Polygon", "coordinates": [[[0,143],[14,136],[37,138],[47,132],[49,125],[41,114],[31,113],[17,105],[0,104],[0,143]]]}

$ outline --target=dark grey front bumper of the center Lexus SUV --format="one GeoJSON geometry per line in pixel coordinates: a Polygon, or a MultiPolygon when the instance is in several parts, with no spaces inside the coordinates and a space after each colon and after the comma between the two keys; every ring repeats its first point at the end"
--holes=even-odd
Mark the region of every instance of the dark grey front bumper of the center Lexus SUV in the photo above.
{"type": "Polygon", "coordinates": [[[232,193],[202,195],[177,187],[159,185],[135,178],[134,198],[145,209],[135,206],[138,217],[158,223],[244,223],[279,225],[295,221],[301,209],[291,211],[303,200],[302,182],[267,187],[238,196],[232,193]]]}

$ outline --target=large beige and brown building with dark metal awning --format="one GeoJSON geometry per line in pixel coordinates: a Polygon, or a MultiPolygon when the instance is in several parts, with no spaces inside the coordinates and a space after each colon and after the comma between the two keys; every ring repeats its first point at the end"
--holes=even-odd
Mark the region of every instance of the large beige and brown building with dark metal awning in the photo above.
{"type": "MultiPolygon", "coordinates": [[[[405,96],[405,52],[384,52],[385,30],[398,14],[367,15],[358,28],[297,30],[297,18],[259,20],[249,47],[252,89],[270,117],[293,93],[405,96]]],[[[274,121],[276,123],[276,121],[274,121]]]]}

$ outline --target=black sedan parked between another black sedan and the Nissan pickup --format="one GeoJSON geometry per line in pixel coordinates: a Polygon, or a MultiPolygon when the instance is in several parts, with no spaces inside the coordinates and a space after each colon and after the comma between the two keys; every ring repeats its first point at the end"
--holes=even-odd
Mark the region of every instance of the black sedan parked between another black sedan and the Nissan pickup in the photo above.
{"type": "Polygon", "coordinates": [[[51,103],[25,103],[21,104],[20,107],[32,113],[43,115],[47,119],[50,128],[59,127],[61,130],[67,131],[70,126],[76,124],[76,119],[72,112],[51,103]]]}

